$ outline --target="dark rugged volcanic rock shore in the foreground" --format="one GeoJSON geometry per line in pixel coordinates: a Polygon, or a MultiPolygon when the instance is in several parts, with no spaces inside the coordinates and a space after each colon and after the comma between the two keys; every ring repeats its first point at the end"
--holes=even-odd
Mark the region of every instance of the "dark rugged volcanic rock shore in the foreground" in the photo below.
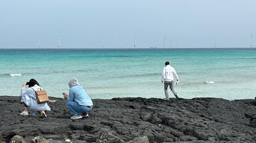
{"type": "Polygon", "coordinates": [[[0,96],[0,142],[255,142],[252,100],[94,99],[87,119],[71,120],[66,100],[47,118],[20,116],[20,97],[0,96]],[[18,135],[18,136],[15,136],[18,135]],[[15,136],[15,137],[14,137],[15,136]],[[35,138],[36,137],[36,138],[35,138]],[[32,141],[33,139],[33,141],[32,141]]]}

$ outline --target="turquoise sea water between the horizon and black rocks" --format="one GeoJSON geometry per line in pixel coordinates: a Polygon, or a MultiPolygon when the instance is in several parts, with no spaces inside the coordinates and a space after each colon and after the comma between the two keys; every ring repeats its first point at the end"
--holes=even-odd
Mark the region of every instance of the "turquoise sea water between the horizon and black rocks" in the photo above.
{"type": "Polygon", "coordinates": [[[255,48],[0,49],[0,95],[18,96],[35,78],[49,96],[62,97],[77,77],[92,99],[164,98],[166,61],[179,75],[181,98],[256,96],[255,48]]]}

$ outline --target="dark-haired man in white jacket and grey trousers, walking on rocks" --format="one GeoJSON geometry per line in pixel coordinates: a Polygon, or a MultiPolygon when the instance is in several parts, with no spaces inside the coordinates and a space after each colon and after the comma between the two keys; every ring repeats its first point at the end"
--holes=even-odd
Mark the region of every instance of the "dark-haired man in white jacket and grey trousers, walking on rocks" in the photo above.
{"type": "Polygon", "coordinates": [[[162,83],[164,82],[164,93],[165,93],[165,99],[164,100],[169,100],[169,95],[167,88],[168,86],[170,87],[170,90],[174,93],[174,96],[176,99],[179,97],[177,96],[177,93],[174,91],[174,75],[176,77],[176,84],[179,83],[179,77],[173,67],[170,66],[169,62],[165,62],[165,67],[163,68],[163,73],[162,73],[162,83]]]}

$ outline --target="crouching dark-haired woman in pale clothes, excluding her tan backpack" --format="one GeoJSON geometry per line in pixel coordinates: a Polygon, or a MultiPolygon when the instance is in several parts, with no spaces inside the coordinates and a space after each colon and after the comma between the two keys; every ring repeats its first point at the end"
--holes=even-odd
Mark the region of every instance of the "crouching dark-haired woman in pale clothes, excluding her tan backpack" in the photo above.
{"type": "Polygon", "coordinates": [[[47,117],[45,111],[50,111],[50,107],[47,105],[47,103],[38,104],[36,101],[35,91],[40,89],[42,90],[39,83],[35,79],[30,79],[29,82],[23,83],[20,96],[22,96],[22,102],[24,102],[25,110],[20,113],[20,115],[29,115],[29,107],[31,116],[36,116],[40,112],[41,116],[47,117]],[[27,90],[25,89],[26,85],[29,86],[27,90]]]}

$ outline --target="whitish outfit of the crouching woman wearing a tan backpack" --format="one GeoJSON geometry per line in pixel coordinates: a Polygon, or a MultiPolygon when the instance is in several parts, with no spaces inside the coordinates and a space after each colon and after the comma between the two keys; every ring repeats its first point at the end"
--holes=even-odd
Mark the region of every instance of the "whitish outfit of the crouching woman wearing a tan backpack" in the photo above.
{"type": "Polygon", "coordinates": [[[50,107],[47,103],[38,104],[36,101],[35,91],[38,89],[41,89],[37,84],[34,85],[34,87],[30,87],[27,90],[25,88],[22,88],[22,91],[20,92],[20,96],[22,96],[22,102],[24,102],[27,106],[30,107],[30,115],[36,116],[38,111],[50,111],[50,107]]]}

